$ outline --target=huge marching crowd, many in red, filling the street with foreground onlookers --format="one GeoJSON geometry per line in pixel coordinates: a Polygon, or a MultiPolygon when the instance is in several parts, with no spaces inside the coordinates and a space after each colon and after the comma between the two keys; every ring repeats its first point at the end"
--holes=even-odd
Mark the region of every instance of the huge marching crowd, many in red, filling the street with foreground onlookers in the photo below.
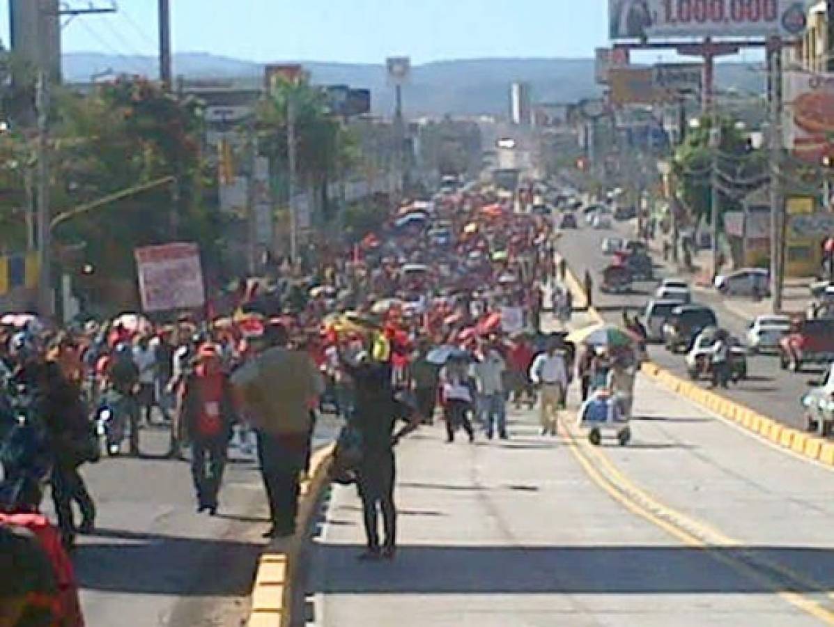
{"type": "MultiPolygon", "coordinates": [[[[154,422],[168,430],[169,457],[183,458],[190,445],[197,509],[208,514],[221,503],[233,434],[245,445],[254,433],[272,521],[266,535],[294,534],[316,415],[331,407],[347,425],[336,465],[363,501],[362,557],[393,557],[399,439],[432,424],[438,407],[450,443],[460,429],[470,442],[479,430],[510,438],[507,403],[532,406],[539,390],[542,433],[555,434],[575,365],[586,391],[604,361],[593,351],[576,359],[564,334],[540,333],[545,307],[563,323],[572,310],[550,229],[489,190],[449,194],[405,204],[352,248],[322,248],[314,265],[242,281],[225,317],[152,324],[127,314],[58,332],[15,320],[0,337],[0,363],[8,389],[38,399],[46,452],[38,469],[27,467],[31,456],[18,459],[16,474],[4,449],[0,539],[19,544],[25,529],[46,524],[32,517],[47,482],[58,544],[72,549],[76,534],[94,529],[95,504],[78,469],[98,461],[91,417],[103,406],[123,416],[130,455],[143,453],[143,429],[154,422]],[[350,442],[359,443],[352,462],[350,442]]],[[[5,409],[0,436],[8,439],[23,427],[16,409],[5,409]]],[[[105,452],[119,454],[121,444],[105,452]]]]}

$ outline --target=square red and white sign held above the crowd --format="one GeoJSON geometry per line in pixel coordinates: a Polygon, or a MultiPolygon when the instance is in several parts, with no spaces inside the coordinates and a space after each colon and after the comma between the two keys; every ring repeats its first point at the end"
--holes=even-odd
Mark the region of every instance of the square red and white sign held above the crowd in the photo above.
{"type": "Polygon", "coordinates": [[[167,243],[137,248],[139,293],[144,311],[203,307],[203,268],[194,243],[167,243]]]}

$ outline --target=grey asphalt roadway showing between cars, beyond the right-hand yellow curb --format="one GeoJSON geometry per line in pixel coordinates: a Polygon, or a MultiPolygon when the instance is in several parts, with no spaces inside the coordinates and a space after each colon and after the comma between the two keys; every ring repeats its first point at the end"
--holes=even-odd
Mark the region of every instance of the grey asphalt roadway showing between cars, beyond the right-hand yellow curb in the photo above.
{"type": "MultiPolygon", "coordinates": [[[[605,236],[633,233],[630,226],[624,223],[615,223],[615,229],[595,230],[581,225],[579,229],[565,231],[558,248],[580,281],[585,271],[590,270],[594,281],[595,306],[606,320],[617,323],[620,322],[623,308],[628,308],[632,313],[642,311],[649,298],[652,298],[657,284],[636,282],[630,294],[600,293],[600,273],[610,263],[610,259],[602,254],[602,239],[605,236]]],[[[660,270],[657,274],[663,276],[660,270]]],[[[741,319],[727,309],[716,293],[693,289],[693,302],[709,305],[716,312],[721,326],[742,340],[746,338],[748,320],[741,319]]],[[[688,379],[682,354],[670,354],[662,345],[652,345],[649,354],[662,368],[688,379]]],[[[750,378],[737,385],[731,384],[730,389],[721,390],[721,394],[783,424],[804,429],[800,399],[808,390],[809,384],[821,378],[821,370],[814,371],[809,368],[801,374],[793,374],[780,369],[779,359],[774,355],[750,355],[747,362],[750,378]]]]}

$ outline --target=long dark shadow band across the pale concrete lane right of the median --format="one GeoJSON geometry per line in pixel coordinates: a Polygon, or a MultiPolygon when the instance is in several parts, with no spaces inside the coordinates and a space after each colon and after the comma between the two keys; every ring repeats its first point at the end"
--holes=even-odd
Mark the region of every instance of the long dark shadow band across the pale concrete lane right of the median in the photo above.
{"type": "MultiPolygon", "coordinates": [[[[834,549],[764,546],[404,546],[391,563],[362,564],[359,546],[316,544],[324,594],[756,594],[771,586],[739,574],[721,557],[776,562],[834,585],[834,549]]],[[[778,587],[814,592],[791,579],[778,587]]],[[[785,589],[785,588],[783,588],[785,589]]]]}

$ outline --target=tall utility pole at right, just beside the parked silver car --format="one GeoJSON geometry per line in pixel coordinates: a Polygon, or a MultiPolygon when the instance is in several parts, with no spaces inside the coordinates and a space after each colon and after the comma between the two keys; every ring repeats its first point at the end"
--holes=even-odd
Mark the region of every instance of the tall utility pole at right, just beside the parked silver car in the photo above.
{"type": "Polygon", "coordinates": [[[773,312],[781,313],[782,286],[785,283],[785,199],[781,188],[781,41],[774,38],[767,46],[771,92],[771,293],[773,312]]]}

